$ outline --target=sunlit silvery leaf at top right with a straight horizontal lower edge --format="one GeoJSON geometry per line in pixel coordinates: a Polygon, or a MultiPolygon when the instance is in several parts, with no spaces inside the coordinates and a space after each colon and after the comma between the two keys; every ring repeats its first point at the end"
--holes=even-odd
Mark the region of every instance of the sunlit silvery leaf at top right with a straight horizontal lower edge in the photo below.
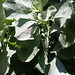
{"type": "Polygon", "coordinates": [[[73,8],[72,3],[68,0],[59,8],[58,12],[55,15],[55,18],[70,18],[73,8]]]}

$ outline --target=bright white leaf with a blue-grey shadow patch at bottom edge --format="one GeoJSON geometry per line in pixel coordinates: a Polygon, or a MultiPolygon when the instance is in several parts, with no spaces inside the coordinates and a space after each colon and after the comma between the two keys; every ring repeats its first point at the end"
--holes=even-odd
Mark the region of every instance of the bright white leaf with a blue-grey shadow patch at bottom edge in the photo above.
{"type": "Polygon", "coordinates": [[[50,62],[50,69],[48,75],[70,75],[70,74],[66,71],[61,61],[55,57],[50,62]]]}

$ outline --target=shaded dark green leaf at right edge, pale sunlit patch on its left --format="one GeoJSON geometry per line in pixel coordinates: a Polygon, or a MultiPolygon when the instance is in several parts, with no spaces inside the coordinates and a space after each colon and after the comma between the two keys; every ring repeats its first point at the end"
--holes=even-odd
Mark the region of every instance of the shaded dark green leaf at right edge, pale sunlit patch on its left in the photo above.
{"type": "Polygon", "coordinates": [[[74,29],[75,28],[75,23],[74,23],[74,21],[75,20],[73,20],[73,19],[67,20],[66,26],[61,29],[62,33],[59,36],[59,41],[60,41],[60,43],[64,42],[62,44],[62,45],[64,45],[63,47],[68,47],[71,44],[75,43],[75,39],[74,39],[75,38],[75,34],[74,34],[74,32],[75,32],[75,29],[74,29]]]}

